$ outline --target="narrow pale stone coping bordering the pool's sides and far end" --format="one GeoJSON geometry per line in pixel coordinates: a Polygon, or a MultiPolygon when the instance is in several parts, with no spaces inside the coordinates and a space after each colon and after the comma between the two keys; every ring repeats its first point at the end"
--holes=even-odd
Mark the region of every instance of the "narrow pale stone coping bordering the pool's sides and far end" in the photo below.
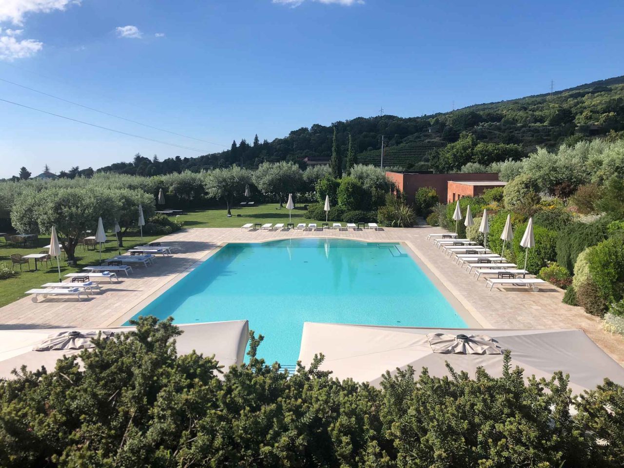
{"type": "MultiPolygon", "coordinates": [[[[310,237],[309,239],[319,239],[319,238],[354,240],[354,241],[360,241],[363,243],[373,243],[370,240],[351,238],[351,237],[340,237],[340,236],[331,236],[331,237],[314,236],[314,237],[310,237]]],[[[203,262],[208,260],[208,258],[215,255],[225,245],[265,243],[265,242],[273,242],[273,241],[279,241],[279,240],[291,240],[291,239],[292,239],[291,237],[285,237],[285,238],[271,238],[271,239],[258,240],[256,242],[223,241],[219,243],[215,248],[208,251],[201,258],[198,258],[196,261],[194,261],[192,265],[189,265],[185,271],[182,271],[178,273],[177,275],[173,276],[173,278],[171,278],[162,286],[158,287],[155,291],[150,293],[149,296],[141,300],[139,303],[132,306],[132,308],[125,311],[124,313],[117,315],[112,320],[111,319],[107,320],[107,322],[102,324],[102,326],[103,327],[122,326],[122,324],[124,324],[130,318],[135,316],[135,314],[143,310],[145,306],[152,303],[152,301],[158,298],[158,296],[165,293],[165,291],[167,291],[173,285],[178,283],[178,281],[181,281],[182,278],[187,276],[191,271],[195,270],[195,268],[202,265],[203,262]]],[[[487,321],[487,319],[485,319],[484,316],[482,316],[482,314],[480,314],[479,311],[477,311],[470,304],[470,301],[468,301],[461,293],[459,293],[459,291],[457,291],[456,288],[453,288],[452,285],[449,286],[449,285],[446,285],[446,283],[444,283],[444,280],[446,280],[446,277],[442,275],[435,266],[431,265],[431,263],[426,261],[423,258],[422,253],[420,253],[419,250],[411,242],[396,240],[396,241],[386,241],[386,243],[398,243],[406,249],[407,255],[409,255],[412,261],[414,261],[414,263],[416,263],[416,265],[419,268],[421,268],[425,276],[427,276],[427,279],[431,281],[431,283],[436,287],[436,289],[440,291],[441,295],[449,302],[453,310],[456,311],[456,313],[460,316],[460,318],[464,321],[464,323],[466,323],[467,328],[492,328],[492,325],[489,323],[489,321],[487,321]]]]}

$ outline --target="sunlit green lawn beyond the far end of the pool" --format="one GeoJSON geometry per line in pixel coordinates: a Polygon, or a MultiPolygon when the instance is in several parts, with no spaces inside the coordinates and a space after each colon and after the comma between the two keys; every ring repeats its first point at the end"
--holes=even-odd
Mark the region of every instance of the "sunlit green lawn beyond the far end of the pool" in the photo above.
{"type": "MultiPolygon", "coordinates": [[[[292,212],[291,223],[313,223],[308,220],[303,206],[296,207],[292,212]]],[[[225,208],[213,210],[190,211],[186,215],[177,218],[184,222],[185,228],[240,228],[246,223],[288,223],[288,210],[281,208],[279,203],[267,203],[258,207],[240,208],[232,210],[232,217],[227,217],[225,208]],[[240,215],[240,217],[238,216],[240,215]]],[[[316,223],[324,223],[325,220],[316,220],[316,223]]]]}

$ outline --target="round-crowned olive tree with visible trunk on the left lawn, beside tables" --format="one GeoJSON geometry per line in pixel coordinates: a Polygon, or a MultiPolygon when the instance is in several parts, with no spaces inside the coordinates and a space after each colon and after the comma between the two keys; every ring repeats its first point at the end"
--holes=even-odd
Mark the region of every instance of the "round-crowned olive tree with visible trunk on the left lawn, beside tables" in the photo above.
{"type": "Polygon", "coordinates": [[[102,217],[104,225],[112,226],[119,212],[114,193],[98,187],[48,188],[41,192],[23,193],[11,210],[13,226],[21,232],[32,231],[34,223],[39,232],[50,232],[56,226],[68,261],[76,261],[76,246],[86,230],[97,226],[102,217]]]}

